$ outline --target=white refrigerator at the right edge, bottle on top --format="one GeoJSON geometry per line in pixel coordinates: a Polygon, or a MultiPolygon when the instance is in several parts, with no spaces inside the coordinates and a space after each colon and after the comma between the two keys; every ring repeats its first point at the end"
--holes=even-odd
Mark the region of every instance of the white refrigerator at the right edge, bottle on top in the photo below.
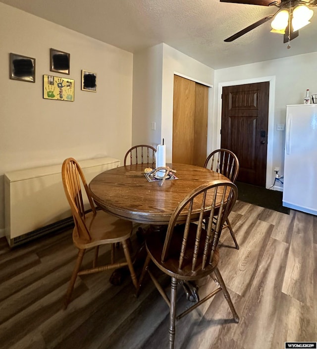
{"type": "Polygon", "coordinates": [[[286,106],[283,206],[317,215],[317,104],[286,106]]]}

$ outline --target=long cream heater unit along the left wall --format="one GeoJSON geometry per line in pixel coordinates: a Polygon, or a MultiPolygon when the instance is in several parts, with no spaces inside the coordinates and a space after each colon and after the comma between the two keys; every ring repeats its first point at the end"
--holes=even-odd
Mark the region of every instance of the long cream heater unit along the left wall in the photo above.
{"type": "MultiPolygon", "coordinates": [[[[78,161],[87,183],[99,173],[120,166],[102,157],[78,161]]],[[[61,164],[4,174],[5,236],[14,247],[73,224],[65,197],[61,164]]]]}

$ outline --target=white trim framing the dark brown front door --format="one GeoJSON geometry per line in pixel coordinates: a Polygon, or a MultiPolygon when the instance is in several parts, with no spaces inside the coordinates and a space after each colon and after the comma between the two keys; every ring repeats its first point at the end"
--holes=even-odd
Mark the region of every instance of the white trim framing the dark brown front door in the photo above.
{"type": "MultiPolygon", "coordinates": [[[[267,125],[267,150],[266,150],[266,174],[265,188],[271,186],[273,173],[273,133],[274,133],[274,97],[275,97],[275,75],[264,76],[261,78],[253,78],[246,80],[226,81],[218,83],[218,115],[217,115],[217,130],[221,128],[221,111],[222,111],[222,88],[227,86],[255,84],[259,82],[269,82],[268,95],[268,125],[267,125]]],[[[217,132],[217,148],[220,148],[220,132],[217,132]]]]}

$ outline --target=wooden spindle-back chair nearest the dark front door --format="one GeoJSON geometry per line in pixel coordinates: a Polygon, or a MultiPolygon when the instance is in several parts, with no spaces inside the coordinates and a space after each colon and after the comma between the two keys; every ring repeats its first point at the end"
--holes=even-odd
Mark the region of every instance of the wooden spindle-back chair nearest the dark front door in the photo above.
{"type": "MultiPolygon", "coordinates": [[[[227,149],[217,149],[212,151],[204,164],[204,167],[213,171],[223,174],[230,179],[231,182],[235,182],[239,173],[239,160],[236,154],[227,149]]],[[[235,248],[239,249],[235,234],[233,232],[229,218],[227,218],[222,229],[228,228],[232,240],[234,241],[235,248]]]]}

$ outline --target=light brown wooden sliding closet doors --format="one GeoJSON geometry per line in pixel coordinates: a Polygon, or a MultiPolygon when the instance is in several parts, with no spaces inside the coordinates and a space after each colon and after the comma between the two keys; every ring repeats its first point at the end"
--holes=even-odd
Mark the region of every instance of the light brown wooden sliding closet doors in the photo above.
{"type": "Polygon", "coordinates": [[[173,162],[204,166],[208,89],[208,86],[174,75],[173,162]]]}

